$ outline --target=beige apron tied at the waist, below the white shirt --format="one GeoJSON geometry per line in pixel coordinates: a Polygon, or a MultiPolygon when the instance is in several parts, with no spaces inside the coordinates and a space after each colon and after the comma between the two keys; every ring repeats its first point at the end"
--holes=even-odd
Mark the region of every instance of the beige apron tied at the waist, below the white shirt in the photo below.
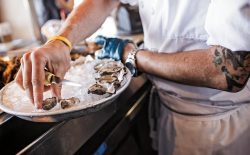
{"type": "Polygon", "coordinates": [[[249,103],[196,104],[163,90],[157,93],[154,87],[150,102],[153,146],[160,155],[249,155],[249,103]]]}

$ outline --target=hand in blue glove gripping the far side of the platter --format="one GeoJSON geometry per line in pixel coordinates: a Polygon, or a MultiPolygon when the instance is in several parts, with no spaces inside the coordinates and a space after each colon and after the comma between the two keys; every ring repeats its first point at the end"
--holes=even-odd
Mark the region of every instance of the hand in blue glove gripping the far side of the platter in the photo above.
{"type": "Polygon", "coordinates": [[[103,36],[96,37],[95,42],[103,46],[101,52],[97,53],[98,59],[113,58],[116,61],[122,60],[125,46],[127,46],[128,43],[132,43],[130,40],[106,38],[103,36]]]}

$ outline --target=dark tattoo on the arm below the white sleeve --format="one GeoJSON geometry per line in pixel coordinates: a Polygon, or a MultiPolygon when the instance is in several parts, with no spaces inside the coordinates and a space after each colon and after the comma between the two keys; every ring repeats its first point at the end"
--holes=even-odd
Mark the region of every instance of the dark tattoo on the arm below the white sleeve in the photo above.
{"type": "Polygon", "coordinates": [[[225,76],[228,91],[239,91],[245,86],[250,74],[250,52],[232,52],[216,46],[213,63],[225,76]]]}

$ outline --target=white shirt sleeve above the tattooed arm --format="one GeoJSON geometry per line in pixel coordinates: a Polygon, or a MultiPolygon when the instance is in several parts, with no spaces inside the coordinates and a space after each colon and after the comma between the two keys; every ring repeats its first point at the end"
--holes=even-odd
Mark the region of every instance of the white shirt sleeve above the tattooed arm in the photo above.
{"type": "Polygon", "coordinates": [[[208,45],[250,51],[250,0],[212,0],[205,29],[208,45]]]}

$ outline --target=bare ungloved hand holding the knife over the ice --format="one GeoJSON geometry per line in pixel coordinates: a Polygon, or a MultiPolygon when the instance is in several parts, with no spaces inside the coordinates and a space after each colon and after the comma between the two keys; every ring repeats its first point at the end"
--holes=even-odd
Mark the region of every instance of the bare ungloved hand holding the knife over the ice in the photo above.
{"type": "Polygon", "coordinates": [[[26,91],[37,108],[42,108],[43,92],[50,90],[53,96],[60,96],[60,86],[44,86],[45,67],[56,76],[63,78],[70,67],[69,48],[61,41],[51,41],[42,47],[27,52],[21,59],[21,67],[15,78],[16,83],[26,91]]]}

